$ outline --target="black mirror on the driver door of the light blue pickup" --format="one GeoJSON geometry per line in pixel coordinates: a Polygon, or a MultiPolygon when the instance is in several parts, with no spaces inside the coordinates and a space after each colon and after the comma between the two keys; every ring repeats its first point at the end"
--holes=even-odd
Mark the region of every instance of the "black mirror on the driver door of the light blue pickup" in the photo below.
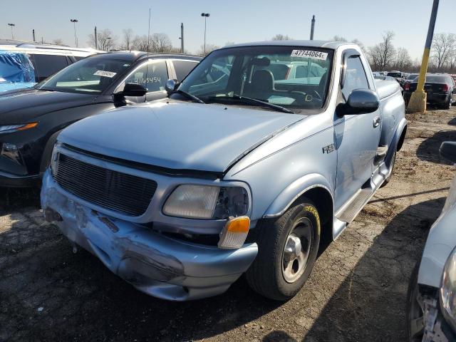
{"type": "Polygon", "coordinates": [[[369,89],[355,89],[348,96],[346,103],[337,106],[337,115],[367,114],[378,110],[380,99],[378,95],[369,89]]]}

